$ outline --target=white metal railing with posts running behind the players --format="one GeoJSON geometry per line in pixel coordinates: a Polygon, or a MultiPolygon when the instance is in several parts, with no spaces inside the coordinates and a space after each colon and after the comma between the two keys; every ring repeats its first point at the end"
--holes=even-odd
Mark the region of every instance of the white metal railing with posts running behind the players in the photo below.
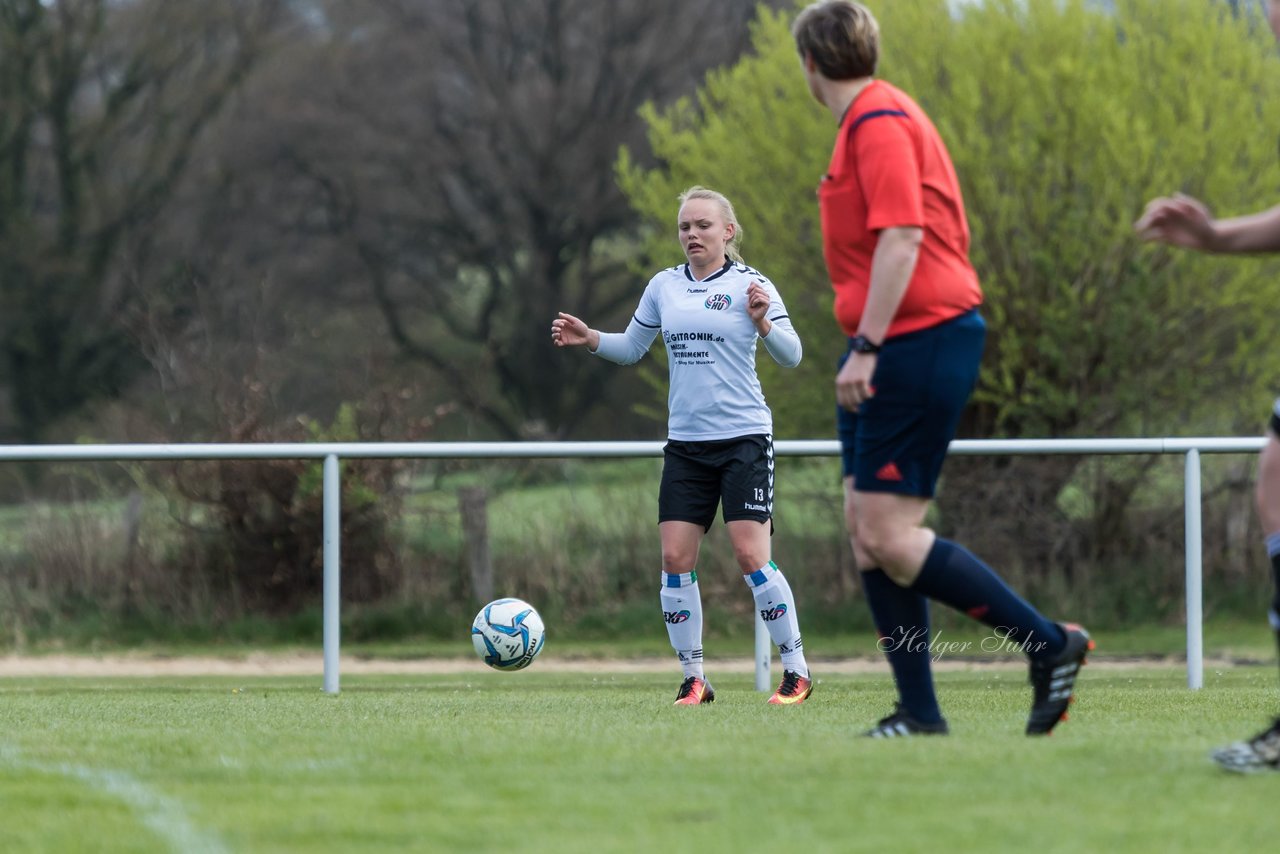
{"type": "MultiPolygon", "coordinates": [[[[1185,457],[1187,521],[1187,685],[1204,684],[1201,543],[1202,453],[1248,453],[1262,449],[1257,438],[1188,439],[960,439],[948,453],[1000,455],[1147,455],[1185,457]]],[[[511,460],[570,457],[660,457],[663,442],[379,442],[262,444],[47,444],[0,446],[0,461],[114,462],[120,460],[323,460],[324,461],[324,690],[338,693],[340,484],[338,460],[511,460]]],[[[778,440],[781,457],[833,457],[835,440],[778,440]]],[[[772,647],[764,624],[755,626],[755,686],[769,688],[772,647]]]]}

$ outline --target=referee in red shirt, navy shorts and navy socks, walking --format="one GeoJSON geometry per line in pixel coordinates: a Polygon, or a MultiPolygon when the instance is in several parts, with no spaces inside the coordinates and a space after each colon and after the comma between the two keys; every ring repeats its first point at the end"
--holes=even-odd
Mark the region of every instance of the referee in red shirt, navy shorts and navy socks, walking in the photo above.
{"type": "Polygon", "coordinates": [[[840,123],[818,198],[836,319],[849,337],[836,375],[845,521],[899,691],[895,712],[865,735],[947,732],[928,599],[1021,645],[1034,689],[1027,732],[1046,734],[1066,714],[1088,634],[1044,618],[924,526],[986,337],[951,156],[915,101],[874,78],[879,27],[863,5],[813,4],[792,35],[810,93],[840,123]]]}

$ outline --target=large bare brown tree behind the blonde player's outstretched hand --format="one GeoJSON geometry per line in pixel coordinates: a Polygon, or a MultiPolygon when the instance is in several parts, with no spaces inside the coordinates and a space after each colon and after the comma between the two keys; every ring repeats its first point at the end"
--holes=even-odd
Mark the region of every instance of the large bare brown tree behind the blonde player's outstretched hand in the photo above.
{"type": "Polygon", "coordinates": [[[644,283],[627,265],[636,218],[614,182],[620,146],[643,156],[640,106],[733,59],[755,4],[324,8],[271,164],[310,187],[293,227],[339,247],[323,287],[364,289],[398,350],[493,434],[571,433],[617,373],[549,347],[549,323],[571,310],[622,324],[644,283]]]}

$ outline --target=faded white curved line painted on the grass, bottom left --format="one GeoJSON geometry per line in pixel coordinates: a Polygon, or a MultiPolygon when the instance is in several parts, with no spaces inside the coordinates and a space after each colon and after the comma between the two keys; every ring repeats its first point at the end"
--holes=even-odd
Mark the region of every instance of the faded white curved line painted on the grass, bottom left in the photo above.
{"type": "Polygon", "coordinates": [[[90,768],[65,762],[32,762],[23,758],[17,748],[8,744],[0,744],[0,764],[72,777],[90,789],[122,800],[133,808],[142,822],[165,840],[174,851],[221,854],[228,850],[215,834],[202,831],[191,823],[180,800],[148,789],[123,771],[90,768]]]}

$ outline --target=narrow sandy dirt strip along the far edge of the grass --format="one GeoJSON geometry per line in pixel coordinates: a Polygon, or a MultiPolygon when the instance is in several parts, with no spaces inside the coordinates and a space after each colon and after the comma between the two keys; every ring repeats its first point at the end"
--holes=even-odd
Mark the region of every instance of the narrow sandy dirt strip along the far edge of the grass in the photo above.
{"type": "MultiPolygon", "coordinates": [[[[883,658],[812,659],[817,673],[886,673],[883,658]]],[[[1132,668],[1152,666],[1185,666],[1179,658],[1094,658],[1089,668],[1132,668]]],[[[1206,658],[1204,667],[1233,667],[1242,662],[1206,658]]],[[[535,667],[553,672],[649,673],[668,672],[676,663],[668,658],[544,658],[535,667]]],[[[941,658],[938,671],[1020,671],[1027,665],[1020,658],[965,659],[941,658]]],[[[475,658],[362,658],[343,656],[338,662],[342,675],[361,673],[466,673],[483,671],[475,658]]],[[[750,673],[751,658],[727,658],[714,663],[717,672],[750,673]]],[[[781,673],[777,662],[772,670],[781,673]]],[[[0,656],[0,677],[17,676],[321,676],[324,657],[310,653],[251,653],[248,656],[0,656]]]]}

